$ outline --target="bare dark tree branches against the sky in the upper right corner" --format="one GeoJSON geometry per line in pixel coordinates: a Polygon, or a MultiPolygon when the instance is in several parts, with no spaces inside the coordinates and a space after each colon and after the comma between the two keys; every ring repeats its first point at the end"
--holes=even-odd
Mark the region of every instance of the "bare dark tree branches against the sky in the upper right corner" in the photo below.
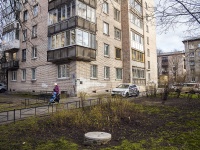
{"type": "Polygon", "coordinates": [[[187,27],[186,31],[193,36],[200,34],[200,1],[199,0],[157,0],[155,9],[157,25],[161,32],[169,29],[187,27]]]}

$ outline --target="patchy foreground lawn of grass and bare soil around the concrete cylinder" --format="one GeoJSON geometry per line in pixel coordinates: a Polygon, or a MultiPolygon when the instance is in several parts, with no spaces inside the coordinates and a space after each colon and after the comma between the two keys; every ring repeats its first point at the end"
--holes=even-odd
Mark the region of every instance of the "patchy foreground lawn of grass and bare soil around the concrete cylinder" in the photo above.
{"type": "Polygon", "coordinates": [[[99,106],[60,111],[0,126],[0,149],[199,150],[200,100],[109,99],[99,106]],[[83,145],[86,132],[112,134],[106,145],[83,145]]]}

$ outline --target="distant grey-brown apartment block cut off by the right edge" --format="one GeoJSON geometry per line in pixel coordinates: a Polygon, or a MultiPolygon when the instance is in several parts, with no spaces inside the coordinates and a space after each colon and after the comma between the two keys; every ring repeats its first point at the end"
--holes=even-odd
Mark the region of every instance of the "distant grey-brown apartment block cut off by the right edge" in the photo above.
{"type": "Polygon", "coordinates": [[[185,64],[187,82],[200,82],[200,38],[190,38],[183,41],[185,45],[185,64]]]}

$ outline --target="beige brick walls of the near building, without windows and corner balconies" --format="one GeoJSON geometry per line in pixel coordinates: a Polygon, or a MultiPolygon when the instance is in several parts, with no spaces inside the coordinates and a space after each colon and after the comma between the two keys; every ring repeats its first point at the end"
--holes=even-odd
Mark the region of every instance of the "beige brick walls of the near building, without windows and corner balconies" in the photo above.
{"type": "MultiPolygon", "coordinates": [[[[133,25],[130,22],[129,13],[133,12],[129,1],[118,3],[115,0],[108,0],[108,13],[103,12],[103,0],[98,0],[96,4],[96,60],[94,61],[60,61],[52,63],[47,61],[48,48],[48,1],[38,0],[39,13],[37,17],[32,17],[31,5],[25,4],[22,10],[28,10],[28,20],[23,22],[20,30],[20,49],[17,52],[19,69],[17,80],[12,81],[12,71],[8,71],[8,87],[13,91],[51,91],[53,83],[57,82],[61,91],[67,91],[70,95],[76,95],[79,92],[89,94],[100,94],[109,92],[119,83],[136,83],[141,90],[145,85],[154,81],[157,83],[157,55],[155,43],[155,26],[142,19],[142,28],[133,25]],[[114,16],[114,8],[120,12],[120,20],[117,21],[114,16]],[[109,25],[109,34],[104,34],[104,23],[109,25]],[[148,32],[146,32],[148,24],[148,32]],[[32,26],[37,25],[37,38],[31,38],[32,26]],[[28,29],[28,40],[22,41],[22,30],[28,29]],[[121,32],[121,38],[115,38],[115,29],[121,32]],[[139,34],[143,38],[143,51],[131,47],[131,31],[139,34]],[[147,44],[147,37],[149,43],[147,44]],[[109,45],[109,55],[104,54],[104,44],[109,45]],[[32,47],[37,47],[37,58],[32,59],[32,47]],[[121,58],[116,58],[116,48],[121,50],[121,58]],[[22,60],[22,50],[26,49],[26,61],[22,60]],[[147,55],[147,49],[150,55],[147,55]],[[141,54],[143,61],[133,60],[133,50],[141,54]],[[147,69],[148,61],[150,68],[147,69]],[[67,78],[58,78],[58,65],[67,64],[69,67],[69,76],[67,78]],[[91,65],[97,66],[97,77],[91,78],[91,65]],[[109,67],[109,78],[104,78],[104,67],[109,67]],[[32,68],[36,69],[36,80],[32,80],[32,68]],[[116,68],[122,69],[122,79],[116,78],[116,68]],[[133,68],[143,70],[144,77],[133,77],[133,68]],[[26,69],[26,80],[22,81],[22,69],[26,69]]],[[[141,6],[154,6],[154,1],[138,1],[141,6]]],[[[34,4],[33,4],[34,5],[34,4]]],[[[33,6],[32,5],[32,6],[33,6]]],[[[145,16],[147,9],[142,8],[142,16],[145,16]]],[[[133,12],[134,13],[134,12],[133,12]]],[[[137,14],[136,14],[137,15],[137,14]]]]}

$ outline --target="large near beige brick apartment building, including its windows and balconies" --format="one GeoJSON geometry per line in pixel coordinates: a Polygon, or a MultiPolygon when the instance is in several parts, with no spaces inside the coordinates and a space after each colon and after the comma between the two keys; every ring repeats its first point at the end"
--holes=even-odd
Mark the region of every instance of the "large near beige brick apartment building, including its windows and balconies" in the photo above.
{"type": "MultiPolygon", "coordinates": [[[[4,2],[8,10],[10,1],[4,2]]],[[[4,15],[13,21],[3,28],[9,90],[51,91],[56,82],[77,95],[109,92],[120,83],[141,90],[157,83],[148,15],[154,0],[23,0],[13,6],[15,13],[4,15]]]]}

